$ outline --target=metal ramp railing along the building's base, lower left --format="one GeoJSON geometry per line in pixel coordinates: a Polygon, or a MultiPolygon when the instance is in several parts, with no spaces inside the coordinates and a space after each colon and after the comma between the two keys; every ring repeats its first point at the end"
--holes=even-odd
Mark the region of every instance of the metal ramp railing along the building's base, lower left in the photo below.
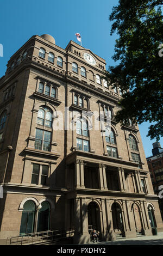
{"type": "Polygon", "coordinates": [[[65,230],[47,230],[35,233],[29,233],[19,236],[12,236],[7,238],[7,245],[36,245],[37,243],[46,243],[66,239],[74,235],[73,229],[65,230]]]}

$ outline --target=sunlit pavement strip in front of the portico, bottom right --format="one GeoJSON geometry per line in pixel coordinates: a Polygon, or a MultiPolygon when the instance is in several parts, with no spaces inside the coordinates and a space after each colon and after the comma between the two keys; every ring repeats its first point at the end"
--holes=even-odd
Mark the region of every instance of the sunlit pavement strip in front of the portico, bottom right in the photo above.
{"type": "Polygon", "coordinates": [[[163,232],[152,236],[139,236],[135,238],[124,238],[116,241],[91,242],[90,245],[163,245],[163,232]]]}

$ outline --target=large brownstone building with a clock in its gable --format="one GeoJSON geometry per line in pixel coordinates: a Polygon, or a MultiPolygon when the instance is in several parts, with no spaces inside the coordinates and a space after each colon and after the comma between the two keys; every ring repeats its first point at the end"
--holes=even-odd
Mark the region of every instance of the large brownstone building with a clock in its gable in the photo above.
{"type": "Polygon", "coordinates": [[[163,230],[139,128],[116,123],[122,93],[104,74],[103,58],[47,34],[11,56],[0,80],[1,239],[71,229],[85,243],[92,228],[103,240],[163,230]]]}

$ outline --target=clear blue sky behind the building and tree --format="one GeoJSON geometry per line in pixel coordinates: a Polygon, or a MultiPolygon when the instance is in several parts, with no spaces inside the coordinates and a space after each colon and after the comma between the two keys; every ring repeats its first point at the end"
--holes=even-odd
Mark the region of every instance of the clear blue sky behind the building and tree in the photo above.
{"type": "MultiPolygon", "coordinates": [[[[51,34],[58,46],[65,48],[70,40],[78,42],[75,33],[82,35],[83,47],[114,65],[116,35],[110,36],[109,14],[117,0],[1,0],[1,37],[3,57],[0,57],[0,77],[5,74],[9,58],[31,36],[51,34]]],[[[146,137],[149,123],[139,126],[146,156],[152,153],[152,143],[146,137]]],[[[163,147],[163,138],[160,139],[163,147]]]]}

